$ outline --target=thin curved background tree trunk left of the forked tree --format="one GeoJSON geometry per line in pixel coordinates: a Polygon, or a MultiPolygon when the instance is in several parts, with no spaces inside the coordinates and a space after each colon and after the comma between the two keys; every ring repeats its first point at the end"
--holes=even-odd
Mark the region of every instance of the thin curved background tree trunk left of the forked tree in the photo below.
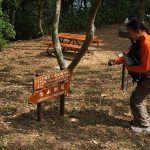
{"type": "Polygon", "coordinates": [[[43,28],[42,28],[42,16],[43,16],[44,4],[45,4],[45,0],[44,1],[40,0],[38,25],[39,25],[39,29],[42,35],[44,35],[43,28]]]}

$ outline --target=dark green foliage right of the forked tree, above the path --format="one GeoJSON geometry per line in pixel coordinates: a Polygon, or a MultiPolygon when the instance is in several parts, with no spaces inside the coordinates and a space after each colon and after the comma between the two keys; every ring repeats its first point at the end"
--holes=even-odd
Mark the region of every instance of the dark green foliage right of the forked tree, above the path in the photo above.
{"type": "Polygon", "coordinates": [[[95,19],[95,25],[105,25],[110,23],[123,22],[125,18],[133,14],[138,14],[139,1],[111,0],[103,1],[95,19]]]}

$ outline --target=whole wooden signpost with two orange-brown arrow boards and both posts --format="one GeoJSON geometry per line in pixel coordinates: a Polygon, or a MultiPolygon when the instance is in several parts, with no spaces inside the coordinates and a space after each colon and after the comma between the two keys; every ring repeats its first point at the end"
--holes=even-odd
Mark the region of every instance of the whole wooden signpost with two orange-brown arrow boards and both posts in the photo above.
{"type": "Polygon", "coordinates": [[[60,96],[60,115],[64,115],[65,94],[70,90],[68,80],[73,76],[69,69],[47,75],[37,75],[33,79],[33,89],[36,90],[29,97],[29,101],[37,104],[38,121],[42,121],[42,103],[60,96]]]}

